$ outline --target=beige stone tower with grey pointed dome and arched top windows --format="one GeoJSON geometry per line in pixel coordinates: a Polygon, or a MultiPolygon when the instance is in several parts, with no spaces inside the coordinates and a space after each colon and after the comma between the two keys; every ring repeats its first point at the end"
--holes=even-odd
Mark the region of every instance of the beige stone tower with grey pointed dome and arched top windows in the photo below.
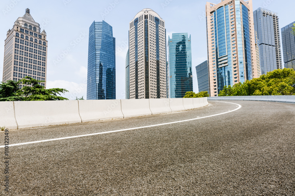
{"type": "MultiPolygon", "coordinates": [[[[41,32],[40,24],[35,22],[30,9],[26,9],[12,30],[7,31],[2,81],[19,81],[25,76],[46,81],[47,43],[45,30],[41,32]]],[[[46,82],[41,85],[46,88],[46,82]]]]}

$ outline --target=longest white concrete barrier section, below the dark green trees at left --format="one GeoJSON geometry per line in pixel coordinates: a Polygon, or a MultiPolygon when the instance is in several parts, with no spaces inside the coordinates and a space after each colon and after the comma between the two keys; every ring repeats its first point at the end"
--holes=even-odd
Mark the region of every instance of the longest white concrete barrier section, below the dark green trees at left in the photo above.
{"type": "Polygon", "coordinates": [[[19,129],[82,122],[78,101],[17,101],[14,109],[19,129]]]}

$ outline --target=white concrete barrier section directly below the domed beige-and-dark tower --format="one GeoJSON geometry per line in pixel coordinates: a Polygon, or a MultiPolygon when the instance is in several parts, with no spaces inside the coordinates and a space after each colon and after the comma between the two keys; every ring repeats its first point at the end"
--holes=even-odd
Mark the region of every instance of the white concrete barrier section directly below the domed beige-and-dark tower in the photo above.
{"type": "Polygon", "coordinates": [[[121,106],[124,118],[152,115],[148,99],[122,99],[121,106]]]}

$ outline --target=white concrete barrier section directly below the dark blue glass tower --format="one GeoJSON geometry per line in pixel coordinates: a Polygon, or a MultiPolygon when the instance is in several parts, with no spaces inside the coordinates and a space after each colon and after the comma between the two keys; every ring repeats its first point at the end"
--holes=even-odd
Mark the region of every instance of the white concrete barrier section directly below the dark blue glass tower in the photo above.
{"type": "Polygon", "coordinates": [[[79,100],[82,122],[124,118],[121,100],[79,100]]]}

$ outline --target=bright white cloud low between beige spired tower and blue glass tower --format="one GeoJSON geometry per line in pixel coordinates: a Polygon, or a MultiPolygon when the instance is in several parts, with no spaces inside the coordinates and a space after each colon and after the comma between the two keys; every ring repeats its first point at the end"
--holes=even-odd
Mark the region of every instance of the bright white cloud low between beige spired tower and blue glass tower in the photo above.
{"type": "Polygon", "coordinates": [[[69,100],[75,100],[76,97],[81,98],[83,96],[86,99],[87,83],[75,83],[64,80],[47,81],[46,88],[65,88],[69,92],[61,94],[62,97],[69,100]]]}

